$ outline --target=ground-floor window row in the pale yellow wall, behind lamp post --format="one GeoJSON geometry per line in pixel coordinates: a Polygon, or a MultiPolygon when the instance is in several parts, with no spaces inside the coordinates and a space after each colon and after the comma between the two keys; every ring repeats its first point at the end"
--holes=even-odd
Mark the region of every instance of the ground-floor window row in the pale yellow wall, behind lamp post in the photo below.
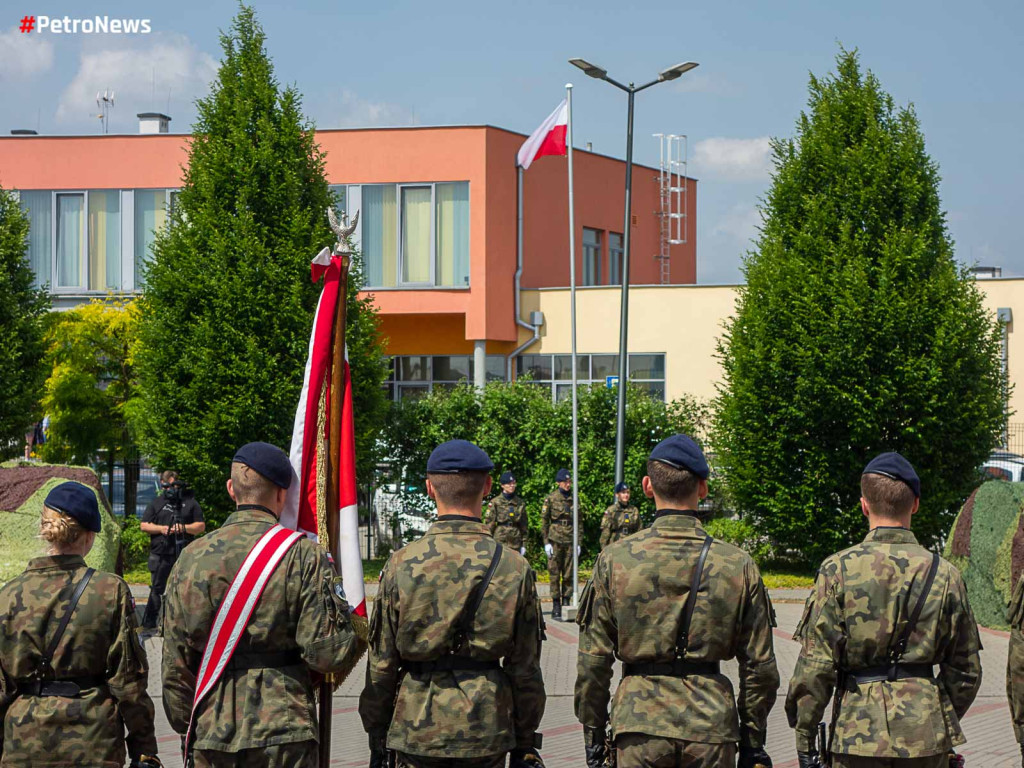
{"type": "MultiPolygon", "coordinates": [[[[665,354],[631,354],[630,381],[655,399],[665,399],[665,354]]],[[[618,376],[617,354],[578,354],[577,383],[606,386],[608,376],[618,376]]],[[[569,354],[522,354],[516,358],[516,378],[551,390],[554,399],[572,395],[572,356],[569,354]]]]}

